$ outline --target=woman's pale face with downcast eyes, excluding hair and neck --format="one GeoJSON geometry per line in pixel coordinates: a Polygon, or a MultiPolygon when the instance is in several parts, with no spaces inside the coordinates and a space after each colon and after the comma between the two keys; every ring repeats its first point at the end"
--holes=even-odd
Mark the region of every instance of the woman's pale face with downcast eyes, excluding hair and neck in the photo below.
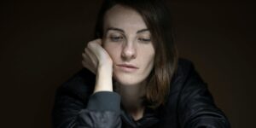
{"type": "Polygon", "coordinates": [[[123,85],[143,83],[154,67],[154,46],[142,16],[115,5],[104,17],[103,31],[103,47],[113,60],[113,78],[123,85]]]}

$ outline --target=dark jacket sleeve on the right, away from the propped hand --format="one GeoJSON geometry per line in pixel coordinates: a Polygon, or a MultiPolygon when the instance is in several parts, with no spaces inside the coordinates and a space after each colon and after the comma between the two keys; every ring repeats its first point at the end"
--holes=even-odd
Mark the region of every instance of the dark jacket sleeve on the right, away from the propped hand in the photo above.
{"type": "Polygon", "coordinates": [[[207,89],[192,63],[189,64],[183,89],[180,94],[177,113],[184,128],[230,128],[224,113],[214,104],[207,89]]]}

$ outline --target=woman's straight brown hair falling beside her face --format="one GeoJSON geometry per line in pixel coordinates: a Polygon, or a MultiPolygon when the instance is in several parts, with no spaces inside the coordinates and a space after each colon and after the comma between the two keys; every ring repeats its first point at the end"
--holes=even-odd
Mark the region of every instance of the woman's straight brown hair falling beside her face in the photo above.
{"type": "Polygon", "coordinates": [[[103,37],[104,15],[119,4],[135,9],[148,26],[154,45],[154,68],[148,76],[146,102],[157,108],[166,102],[173,73],[177,67],[177,49],[173,44],[169,10],[160,0],[105,0],[96,21],[96,38],[103,37]]]}

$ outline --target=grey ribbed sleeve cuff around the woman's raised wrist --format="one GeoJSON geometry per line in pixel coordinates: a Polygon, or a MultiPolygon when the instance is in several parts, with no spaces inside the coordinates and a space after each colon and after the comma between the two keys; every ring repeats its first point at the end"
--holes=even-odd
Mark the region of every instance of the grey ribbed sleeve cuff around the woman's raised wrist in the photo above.
{"type": "Polygon", "coordinates": [[[112,91],[100,91],[90,96],[87,109],[97,111],[119,111],[120,96],[112,91]]]}

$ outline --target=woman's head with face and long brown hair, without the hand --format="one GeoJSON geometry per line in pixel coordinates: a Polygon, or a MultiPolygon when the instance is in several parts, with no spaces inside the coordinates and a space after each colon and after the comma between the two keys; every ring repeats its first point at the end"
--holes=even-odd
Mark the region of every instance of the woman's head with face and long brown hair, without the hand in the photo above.
{"type": "Polygon", "coordinates": [[[153,108],[165,102],[177,65],[169,17],[159,0],[106,0],[96,22],[96,38],[113,59],[114,79],[146,82],[153,108]]]}

